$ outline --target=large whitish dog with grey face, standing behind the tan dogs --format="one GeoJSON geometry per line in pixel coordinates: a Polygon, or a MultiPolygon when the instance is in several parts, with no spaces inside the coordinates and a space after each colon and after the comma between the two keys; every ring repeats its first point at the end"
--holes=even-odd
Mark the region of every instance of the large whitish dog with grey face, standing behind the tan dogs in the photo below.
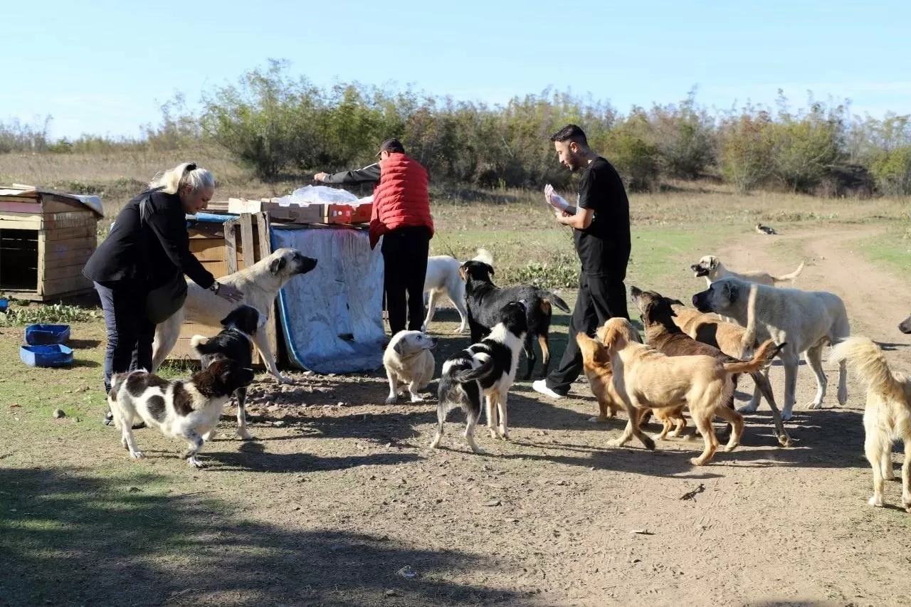
{"type": "MultiPolygon", "coordinates": [[[[776,344],[787,344],[779,353],[784,364],[784,421],[793,417],[801,353],[816,376],[816,396],[807,408],[822,408],[828,385],[823,370],[823,347],[835,345],[851,334],[848,314],[838,295],[779,289],[728,276],[693,295],[692,304],[701,312],[730,316],[746,326],[747,343],[754,338],[772,338],[776,344]]],[[[759,396],[756,389],[744,410],[755,411],[759,396]]],[[[847,398],[847,372],[842,363],[838,368],[838,404],[844,406],[847,398]]]]}

